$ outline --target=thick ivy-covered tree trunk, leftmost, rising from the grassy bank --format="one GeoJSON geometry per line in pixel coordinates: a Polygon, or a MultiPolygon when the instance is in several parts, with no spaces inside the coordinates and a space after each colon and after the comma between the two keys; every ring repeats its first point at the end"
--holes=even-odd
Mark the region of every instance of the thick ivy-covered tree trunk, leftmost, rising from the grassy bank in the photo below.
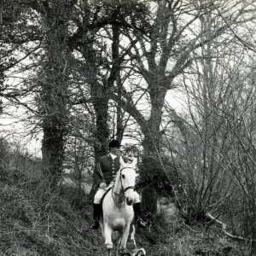
{"type": "Polygon", "coordinates": [[[67,134],[68,83],[70,52],[67,47],[67,22],[72,5],[53,1],[44,5],[44,61],[39,81],[41,85],[38,108],[42,113],[44,131],[42,154],[44,175],[52,189],[58,185],[64,160],[67,134]],[[61,5],[60,5],[61,4],[61,5]]]}

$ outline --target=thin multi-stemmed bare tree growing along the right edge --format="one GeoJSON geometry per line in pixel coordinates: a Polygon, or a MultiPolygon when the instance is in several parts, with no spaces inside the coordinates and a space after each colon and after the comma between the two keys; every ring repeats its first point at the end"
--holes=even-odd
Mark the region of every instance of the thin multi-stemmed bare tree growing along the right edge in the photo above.
{"type": "MultiPolygon", "coordinates": [[[[212,14],[201,19],[201,26],[214,29],[212,14]]],[[[195,219],[216,220],[225,235],[252,241],[254,255],[255,206],[250,199],[255,196],[255,74],[247,59],[248,50],[236,40],[237,35],[226,33],[213,42],[207,40],[208,36],[207,44],[195,50],[194,69],[184,74],[189,123],[180,117],[172,122],[183,136],[182,149],[176,151],[181,154],[177,158],[183,160],[185,183],[189,184],[183,188],[187,202],[183,216],[188,223],[195,219]],[[230,224],[233,235],[218,218],[230,224]],[[249,228],[236,225],[237,218],[246,219],[249,228]]],[[[252,52],[250,55],[253,58],[252,52]]],[[[171,116],[176,116],[172,109],[171,116]]]]}

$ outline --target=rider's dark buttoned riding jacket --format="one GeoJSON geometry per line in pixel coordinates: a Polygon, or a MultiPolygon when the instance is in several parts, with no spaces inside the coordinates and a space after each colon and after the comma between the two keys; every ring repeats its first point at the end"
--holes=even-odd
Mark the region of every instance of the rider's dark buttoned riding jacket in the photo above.
{"type": "Polygon", "coordinates": [[[100,158],[95,172],[95,184],[96,188],[99,187],[100,183],[106,183],[109,185],[113,178],[116,176],[116,173],[120,168],[120,160],[122,157],[124,162],[128,162],[128,158],[126,156],[117,156],[114,160],[111,157],[111,154],[104,155],[100,158]]]}

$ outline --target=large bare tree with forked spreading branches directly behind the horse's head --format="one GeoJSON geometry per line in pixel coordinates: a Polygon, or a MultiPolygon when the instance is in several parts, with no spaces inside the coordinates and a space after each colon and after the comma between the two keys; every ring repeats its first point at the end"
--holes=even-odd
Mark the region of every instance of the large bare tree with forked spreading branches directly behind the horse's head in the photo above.
{"type": "MultiPolygon", "coordinates": [[[[131,42],[134,38],[138,41],[130,54],[133,56],[131,67],[145,81],[141,93],[148,97],[147,115],[131,101],[131,95],[125,88],[122,90],[121,99],[117,95],[112,96],[113,100],[119,102],[119,105],[137,120],[143,132],[144,158],[141,174],[148,182],[147,189],[143,190],[143,196],[155,199],[150,201],[150,206],[147,205],[147,200],[144,201],[148,212],[155,212],[156,209],[156,177],[166,175],[159,157],[163,135],[160,125],[166,93],[176,86],[178,76],[191,65],[195,49],[200,49],[218,38],[231,24],[243,22],[241,14],[246,9],[245,6],[240,7],[239,3],[230,2],[223,6],[218,3],[219,12],[222,13],[220,16],[213,12],[213,6],[208,2],[198,5],[194,1],[158,1],[152,6],[155,12],[151,28],[148,30],[149,39],[138,33],[133,36],[126,35],[131,42]],[[211,22],[216,26],[198,29],[199,20],[208,12],[212,13],[211,22]],[[229,26],[224,23],[223,16],[230,20],[229,26]],[[155,173],[158,174],[154,175],[155,173]]],[[[252,19],[252,16],[247,19],[252,19]]],[[[145,100],[145,97],[142,99],[145,100]]]]}

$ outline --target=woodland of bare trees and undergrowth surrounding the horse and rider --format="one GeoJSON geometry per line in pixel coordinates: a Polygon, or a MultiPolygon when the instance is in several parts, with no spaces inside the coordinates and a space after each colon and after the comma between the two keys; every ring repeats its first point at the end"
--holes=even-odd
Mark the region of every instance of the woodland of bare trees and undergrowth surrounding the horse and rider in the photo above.
{"type": "Polygon", "coordinates": [[[1,139],[1,253],[102,255],[83,186],[115,137],[139,160],[149,255],[256,255],[255,14],[254,0],[2,0],[1,114],[42,134],[42,158],[1,139]]]}

